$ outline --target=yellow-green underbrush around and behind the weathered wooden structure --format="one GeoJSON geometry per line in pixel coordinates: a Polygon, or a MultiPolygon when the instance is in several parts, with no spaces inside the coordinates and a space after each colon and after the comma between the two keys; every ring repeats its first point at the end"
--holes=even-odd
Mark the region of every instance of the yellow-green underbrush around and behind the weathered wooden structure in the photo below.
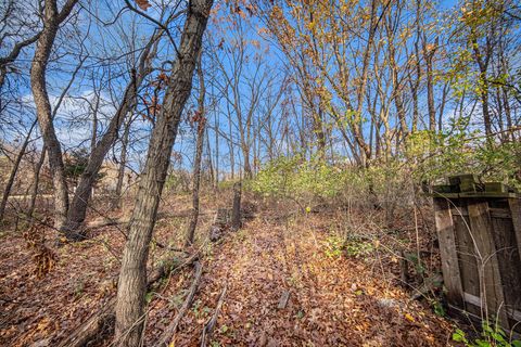
{"type": "MultiPolygon", "coordinates": [[[[520,143],[469,142],[468,137],[418,132],[405,153],[367,168],[319,156],[282,156],[245,188],[279,214],[277,206],[290,209],[287,216],[323,216],[328,236],[321,248],[328,258],[364,261],[389,285],[402,286],[411,299],[446,317],[433,211],[422,188],[458,174],[521,187],[520,143]]],[[[469,330],[459,324],[465,322],[455,323],[453,337],[466,346],[521,346],[497,326],[484,324],[466,335],[469,330]]]]}

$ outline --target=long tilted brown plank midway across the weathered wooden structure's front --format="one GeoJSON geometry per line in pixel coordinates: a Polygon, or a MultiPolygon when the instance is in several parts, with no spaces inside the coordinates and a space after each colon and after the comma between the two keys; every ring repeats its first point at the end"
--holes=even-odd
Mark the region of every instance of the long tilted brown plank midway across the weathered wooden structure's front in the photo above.
{"type": "Polygon", "coordinates": [[[499,324],[509,329],[488,203],[481,198],[469,198],[468,211],[480,268],[480,296],[486,304],[482,307],[486,308],[488,317],[497,317],[499,324]]]}

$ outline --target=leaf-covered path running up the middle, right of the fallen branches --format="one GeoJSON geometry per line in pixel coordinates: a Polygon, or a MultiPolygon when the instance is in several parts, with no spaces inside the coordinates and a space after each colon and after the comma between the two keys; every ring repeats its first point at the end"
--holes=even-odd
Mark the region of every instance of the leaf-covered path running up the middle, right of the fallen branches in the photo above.
{"type": "MultiPolygon", "coordinates": [[[[280,224],[257,218],[228,234],[204,259],[200,292],[175,335],[176,346],[199,344],[225,285],[211,346],[447,345],[446,321],[391,285],[382,267],[328,256],[327,232],[320,229],[306,220],[280,224]],[[280,309],[284,291],[290,297],[280,309]]],[[[179,293],[175,285],[165,295],[174,293],[179,293]]],[[[165,323],[171,317],[165,314],[165,323]]]]}

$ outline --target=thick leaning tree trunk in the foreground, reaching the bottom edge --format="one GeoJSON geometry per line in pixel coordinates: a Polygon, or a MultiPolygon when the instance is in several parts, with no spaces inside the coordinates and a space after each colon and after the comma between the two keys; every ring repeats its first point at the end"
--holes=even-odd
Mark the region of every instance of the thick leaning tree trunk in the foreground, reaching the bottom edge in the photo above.
{"type": "Polygon", "coordinates": [[[119,272],[115,343],[137,347],[143,331],[147,259],[161,193],[170,162],[181,113],[192,88],[193,70],[213,0],[192,0],[173,66],[164,103],[152,131],[145,166],[129,223],[119,272]]]}

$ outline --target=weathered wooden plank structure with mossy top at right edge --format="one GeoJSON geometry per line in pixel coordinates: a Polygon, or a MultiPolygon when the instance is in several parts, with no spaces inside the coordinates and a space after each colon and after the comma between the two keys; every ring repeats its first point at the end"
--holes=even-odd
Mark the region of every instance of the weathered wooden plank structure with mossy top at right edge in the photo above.
{"type": "Polygon", "coordinates": [[[521,332],[521,198],[473,175],[435,185],[434,217],[452,309],[521,332]]]}

